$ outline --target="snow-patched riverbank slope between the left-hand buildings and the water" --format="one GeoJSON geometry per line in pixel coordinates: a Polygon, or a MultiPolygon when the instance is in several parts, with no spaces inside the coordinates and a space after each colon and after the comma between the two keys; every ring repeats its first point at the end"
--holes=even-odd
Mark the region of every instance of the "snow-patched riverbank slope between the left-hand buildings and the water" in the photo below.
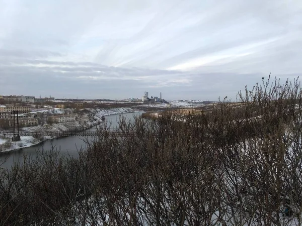
{"type": "MultiPolygon", "coordinates": [[[[57,114],[73,114],[77,118],[73,122],[57,123],[57,124],[46,124],[35,126],[35,127],[24,127],[21,128],[21,131],[27,132],[68,132],[68,131],[83,131],[87,130],[93,126],[100,124],[102,116],[125,114],[129,112],[138,112],[140,110],[130,108],[130,107],[119,107],[119,108],[110,108],[110,109],[100,109],[100,108],[85,108],[83,110],[75,109],[49,109],[38,111],[39,120],[46,122],[48,116],[57,115],[57,114]]],[[[12,150],[17,150],[20,148],[26,148],[33,145],[37,145],[45,140],[49,140],[55,137],[21,137],[21,141],[12,142],[11,137],[0,136],[0,152],[8,152],[12,150]]]]}

